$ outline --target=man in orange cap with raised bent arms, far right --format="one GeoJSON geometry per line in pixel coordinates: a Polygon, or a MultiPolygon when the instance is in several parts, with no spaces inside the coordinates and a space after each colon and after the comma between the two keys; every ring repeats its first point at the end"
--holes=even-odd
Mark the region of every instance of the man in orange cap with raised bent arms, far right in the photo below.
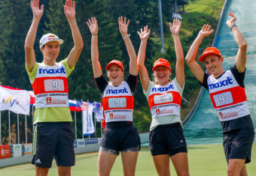
{"type": "Polygon", "coordinates": [[[204,73],[195,61],[198,47],[203,37],[212,34],[210,25],[203,25],[196,40],[186,56],[187,64],[192,73],[210,94],[212,104],[218,112],[223,132],[223,146],[228,163],[228,175],[247,175],[245,163],[251,162],[251,146],[254,141],[254,127],[249,114],[245,95],[245,63],[247,43],[237,28],[236,17],[229,13],[232,19],[227,20],[227,26],[233,32],[239,50],[236,64],[230,70],[223,70],[224,58],[215,47],[209,47],[198,58],[206,64],[209,73],[204,73]]]}

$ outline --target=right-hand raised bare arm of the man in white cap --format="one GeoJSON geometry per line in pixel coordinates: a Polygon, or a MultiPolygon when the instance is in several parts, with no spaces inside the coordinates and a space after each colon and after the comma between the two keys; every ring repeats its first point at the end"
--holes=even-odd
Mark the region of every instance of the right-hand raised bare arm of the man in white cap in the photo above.
{"type": "Polygon", "coordinates": [[[83,39],[78,29],[78,24],[75,20],[75,1],[66,0],[66,4],[64,5],[64,13],[69,21],[72,37],[75,44],[68,56],[68,64],[69,67],[72,68],[77,63],[81,51],[84,48],[83,39]]]}

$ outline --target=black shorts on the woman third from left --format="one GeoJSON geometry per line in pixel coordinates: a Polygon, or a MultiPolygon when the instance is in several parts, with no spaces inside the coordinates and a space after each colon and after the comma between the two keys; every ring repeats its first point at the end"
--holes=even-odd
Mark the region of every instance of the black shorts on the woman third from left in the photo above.
{"type": "Polygon", "coordinates": [[[172,157],[178,153],[187,153],[187,143],[181,124],[163,124],[149,133],[151,155],[169,154],[172,157]]]}

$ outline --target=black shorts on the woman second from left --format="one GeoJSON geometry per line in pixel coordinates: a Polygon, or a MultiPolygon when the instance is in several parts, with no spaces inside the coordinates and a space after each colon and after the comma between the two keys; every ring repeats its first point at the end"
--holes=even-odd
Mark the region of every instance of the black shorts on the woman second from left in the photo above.
{"type": "Polygon", "coordinates": [[[130,148],[140,148],[141,140],[132,121],[108,122],[103,132],[100,146],[116,151],[126,151],[130,148]]]}

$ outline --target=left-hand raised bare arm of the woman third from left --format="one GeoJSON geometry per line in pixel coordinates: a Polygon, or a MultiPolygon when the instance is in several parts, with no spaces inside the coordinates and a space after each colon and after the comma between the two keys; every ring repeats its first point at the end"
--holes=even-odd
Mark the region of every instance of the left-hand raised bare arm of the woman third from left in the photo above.
{"type": "Polygon", "coordinates": [[[139,77],[142,82],[142,87],[144,91],[148,91],[148,85],[150,82],[149,76],[148,76],[148,70],[145,67],[145,52],[146,52],[146,46],[148,37],[151,34],[151,30],[148,28],[148,25],[144,27],[144,29],[141,28],[141,32],[139,33],[139,37],[141,39],[141,45],[139,46],[139,53],[138,53],[138,61],[137,65],[139,68],[139,77]]]}

